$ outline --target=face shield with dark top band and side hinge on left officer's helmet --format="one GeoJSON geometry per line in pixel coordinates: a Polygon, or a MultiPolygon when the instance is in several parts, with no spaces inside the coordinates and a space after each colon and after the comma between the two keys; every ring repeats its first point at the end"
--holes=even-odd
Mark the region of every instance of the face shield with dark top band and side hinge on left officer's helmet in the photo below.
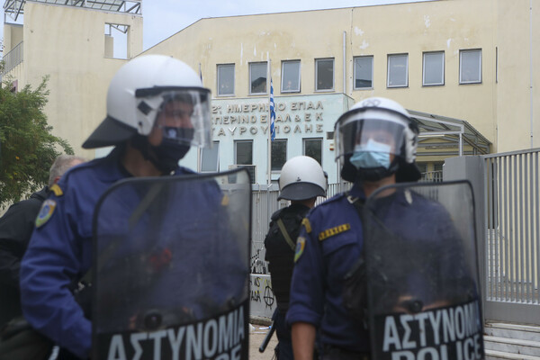
{"type": "MultiPolygon", "coordinates": [[[[210,92],[203,88],[139,89],[144,97],[139,110],[148,108],[147,116],[155,116],[148,134],[150,142],[175,143],[184,146],[211,146],[210,92]],[[152,92],[157,94],[152,94],[152,92]]],[[[142,111],[145,113],[145,111],[142,111]]]]}

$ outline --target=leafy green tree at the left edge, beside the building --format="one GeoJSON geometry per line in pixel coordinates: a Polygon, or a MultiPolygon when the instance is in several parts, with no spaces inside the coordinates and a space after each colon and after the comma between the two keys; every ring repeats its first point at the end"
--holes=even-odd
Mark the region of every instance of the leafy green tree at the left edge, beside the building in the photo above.
{"type": "Polygon", "coordinates": [[[26,85],[18,93],[7,84],[0,88],[0,203],[17,202],[40,189],[54,159],[62,152],[73,155],[65,139],[50,133],[43,112],[48,80],[45,76],[35,90],[26,85]]]}

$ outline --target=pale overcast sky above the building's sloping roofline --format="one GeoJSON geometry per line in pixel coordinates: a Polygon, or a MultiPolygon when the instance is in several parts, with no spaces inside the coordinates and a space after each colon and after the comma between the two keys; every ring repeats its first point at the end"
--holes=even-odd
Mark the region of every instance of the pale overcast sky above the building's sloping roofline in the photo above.
{"type": "MultiPolygon", "coordinates": [[[[143,0],[143,48],[156,45],[202,18],[418,1],[433,0],[143,0]]],[[[4,5],[5,0],[0,2],[4,5]]],[[[4,6],[0,10],[4,19],[4,6]]],[[[4,28],[1,26],[0,39],[3,36],[4,28]]]]}

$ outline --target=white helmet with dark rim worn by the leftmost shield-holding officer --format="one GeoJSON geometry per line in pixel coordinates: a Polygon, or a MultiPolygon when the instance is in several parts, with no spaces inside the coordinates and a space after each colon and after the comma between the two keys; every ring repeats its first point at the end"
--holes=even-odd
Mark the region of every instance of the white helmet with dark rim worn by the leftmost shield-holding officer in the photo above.
{"type": "Polygon", "coordinates": [[[181,132],[169,131],[170,136],[187,145],[211,144],[210,90],[202,87],[201,78],[180,60],[144,55],[131,59],[112,77],[107,117],[83,148],[117,145],[135,134],[148,136],[162,106],[175,100],[193,105],[193,132],[185,139],[181,132]]]}

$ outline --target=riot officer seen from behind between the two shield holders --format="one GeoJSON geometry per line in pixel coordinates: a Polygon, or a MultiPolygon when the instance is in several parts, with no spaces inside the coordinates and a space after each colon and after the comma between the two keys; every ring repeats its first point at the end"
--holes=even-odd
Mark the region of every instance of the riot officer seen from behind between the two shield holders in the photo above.
{"type": "Polygon", "coordinates": [[[265,238],[265,259],[277,301],[273,325],[278,340],[275,354],[278,360],[293,360],[291,331],[285,324],[285,314],[289,309],[294,248],[303,218],[315,205],[317,197],[326,194],[326,175],[314,158],[293,157],[282,168],[279,189],[277,199],[290,200],[291,205],[272,214],[265,238]]]}

